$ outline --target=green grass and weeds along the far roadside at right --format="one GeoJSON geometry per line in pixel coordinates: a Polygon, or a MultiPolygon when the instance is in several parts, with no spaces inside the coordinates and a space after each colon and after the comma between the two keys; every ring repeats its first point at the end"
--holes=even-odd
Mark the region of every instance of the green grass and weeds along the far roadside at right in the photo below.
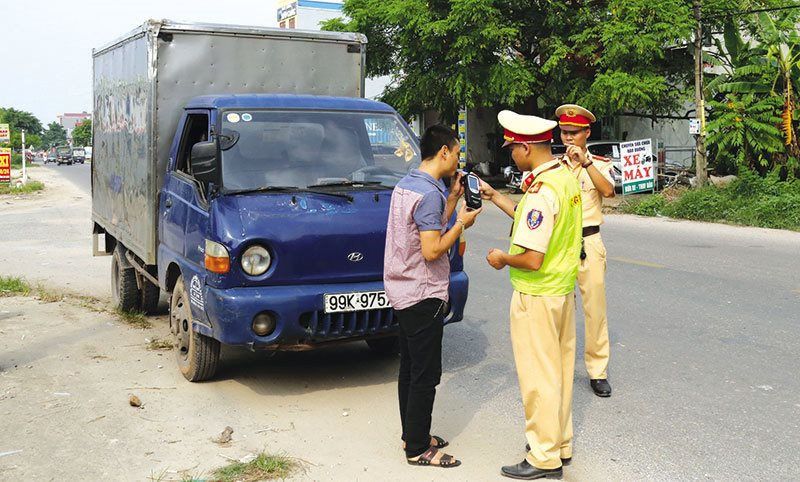
{"type": "Polygon", "coordinates": [[[800,231],[800,181],[780,181],[744,171],[724,187],[667,190],[625,201],[620,209],[641,216],[800,231]]]}

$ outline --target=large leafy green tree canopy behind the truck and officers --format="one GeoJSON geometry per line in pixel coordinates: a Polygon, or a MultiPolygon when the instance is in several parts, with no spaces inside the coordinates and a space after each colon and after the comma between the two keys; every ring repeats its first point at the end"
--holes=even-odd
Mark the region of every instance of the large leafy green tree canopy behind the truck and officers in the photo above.
{"type": "Polygon", "coordinates": [[[324,28],[367,36],[367,75],[392,76],[382,100],[404,115],[500,105],[549,116],[565,101],[654,115],[691,98],[685,0],[345,0],[343,12],[324,28]]]}

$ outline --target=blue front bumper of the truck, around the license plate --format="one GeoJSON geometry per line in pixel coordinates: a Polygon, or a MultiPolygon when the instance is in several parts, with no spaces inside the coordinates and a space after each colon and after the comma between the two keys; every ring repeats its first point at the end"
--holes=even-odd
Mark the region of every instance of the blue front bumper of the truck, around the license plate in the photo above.
{"type": "MultiPolygon", "coordinates": [[[[445,323],[460,321],[467,302],[469,278],[463,271],[450,274],[450,307],[445,323]]],[[[205,323],[195,330],[226,345],[252,349],[308,350],[342,341],[388,336],[397,332],[392,308],[326,314],[324,295],[383,290],[383,282],[313,286],[259,286],[216,289],[206,286],[205,323]],[[267,336],[253,332],[256,315],[269,312],[276,320],[267,336]],[[205,324],[207,326],[204,326],[205,324]],[[210,328],[209,328],[210,326],[210,328]]]]}

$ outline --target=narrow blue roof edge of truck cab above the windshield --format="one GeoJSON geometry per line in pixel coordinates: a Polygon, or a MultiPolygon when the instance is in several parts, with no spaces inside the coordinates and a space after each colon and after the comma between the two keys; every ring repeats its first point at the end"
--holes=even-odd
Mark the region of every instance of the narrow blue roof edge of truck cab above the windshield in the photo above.
{"type": "Polygon", "coordinates": [[[394,113],[389,105],[357,97],[290,94],[203,95],[191,99],[187,109],[308,109],[394,113]]]}

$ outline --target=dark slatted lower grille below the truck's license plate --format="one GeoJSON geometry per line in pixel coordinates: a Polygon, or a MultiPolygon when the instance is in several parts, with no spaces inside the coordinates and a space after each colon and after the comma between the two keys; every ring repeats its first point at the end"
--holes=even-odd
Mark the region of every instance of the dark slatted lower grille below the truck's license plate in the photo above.
{"type": "Polygon", "coordinates": [[[300,324],[312,339],[347,338],[375,335],[397,327],[392,308],[330,313],[312,311],[300,315],[300,324]]]}

